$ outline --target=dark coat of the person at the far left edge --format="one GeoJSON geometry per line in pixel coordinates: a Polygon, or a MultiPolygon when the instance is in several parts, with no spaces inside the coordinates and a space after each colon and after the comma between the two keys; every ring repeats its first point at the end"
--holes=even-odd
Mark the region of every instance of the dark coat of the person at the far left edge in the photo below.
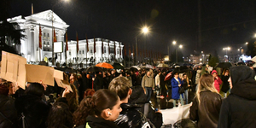
{"type": "Polygon", "coordinates": [[[0,95],[0,127],[17,127],[18,117],[15,109],[15,100],[9,96],[0,95]],[[6,119],[7,118],[7,119],[6,119]]]}

